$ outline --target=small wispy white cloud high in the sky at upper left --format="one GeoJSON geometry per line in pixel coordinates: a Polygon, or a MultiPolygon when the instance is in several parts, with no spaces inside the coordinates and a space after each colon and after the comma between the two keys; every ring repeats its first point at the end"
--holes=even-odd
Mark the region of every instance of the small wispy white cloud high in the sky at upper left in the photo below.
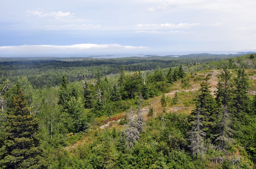
{"type": "Polygon", "coordinates": [[[70,13],[70,12],[48,12],[48,13],[44,13],[44,12],[40,12],[40,11],[34,11],[34,10],[27,10],[25,11],[25,13],[27,14],[27,16],[38,16],[39,18],[42,17],[54,17],[54,18],[65,18],[71,15],[74,15],[74,13],[70,13]]]}

